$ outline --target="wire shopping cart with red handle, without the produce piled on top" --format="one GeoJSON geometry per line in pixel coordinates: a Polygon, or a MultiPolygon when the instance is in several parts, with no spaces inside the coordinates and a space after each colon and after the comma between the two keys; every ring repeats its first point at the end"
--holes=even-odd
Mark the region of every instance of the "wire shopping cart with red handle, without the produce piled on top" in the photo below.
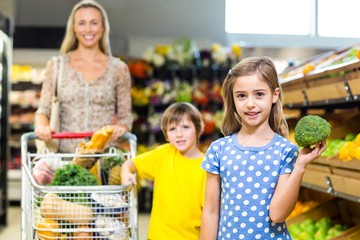
{"type": "MultiPolygon", "coordinates": [[[[86,138],[91,135],[59,133],[53,137],[86,138]]],[[[138,239],[137,190],[133,185],[51,186],[39,184],[34,178],[34,169],[40,163],[65,169],[74,166],[70,163],[76,157],[92,158],[97,162],[116,157],[115,148],[101,154],[49,153],[46,150],[40,154],[30,153],[29,142],[36,138],[34,132],[21,137],[22,240],[138,239]]],[[[129,151],[124,151],[122,156],[134,157],[136,136],[126,133],[122,139],[129,145],[129,151]]],[[[98,166],[101,168],[101,164],[98,166]]]]}

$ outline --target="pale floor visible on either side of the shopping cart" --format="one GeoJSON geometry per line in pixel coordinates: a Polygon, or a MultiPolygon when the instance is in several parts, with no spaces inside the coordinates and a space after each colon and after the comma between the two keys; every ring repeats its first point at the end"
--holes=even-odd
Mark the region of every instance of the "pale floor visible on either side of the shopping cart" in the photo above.
{"type": "MultiPolygon", "coordinates": [[[[139,240],[145,240],[149,222],[149,214],[139,214],[139,240]]],[[[0,230],[0,239],[2,240],[20,240],[21,239],[21,208],[10,206],[8,208],[8,225],[0,230]]],[[[29,239],[30,240],[30,239],[29,239]]]]}

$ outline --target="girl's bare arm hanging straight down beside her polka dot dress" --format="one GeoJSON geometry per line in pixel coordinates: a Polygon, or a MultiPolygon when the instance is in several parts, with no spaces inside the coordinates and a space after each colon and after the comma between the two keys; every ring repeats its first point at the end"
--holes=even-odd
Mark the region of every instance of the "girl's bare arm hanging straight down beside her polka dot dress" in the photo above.
{"type": "Polygon", "coordinates": [[[217,238],[220,218],[220,176],[206,174],[205,203],[201,218],[200,240],[217,238]]]}

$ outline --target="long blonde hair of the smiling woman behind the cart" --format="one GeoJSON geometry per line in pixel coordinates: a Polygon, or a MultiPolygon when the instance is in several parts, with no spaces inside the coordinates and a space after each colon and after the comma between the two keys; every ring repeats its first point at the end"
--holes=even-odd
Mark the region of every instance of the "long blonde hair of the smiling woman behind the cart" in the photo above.
{"type": "Polygon", "coordinates": [[[108,16],[105,9],[98,2],[94,0],[82,0],[73,7],[67,21],[65,37],[60,47],[60,53],[64,55],[72,50],[75,50],[79,46],[79,41],[76,38],[74,32],[74,20],[75,20],[75,14],[80,8],[95,8],[99,10],[102,18],[102,25],[104,27],[104,32],[100,39],[99,47],[103,53],[105,53],[106,55],[111,55],[110,40],[109,40],[110,25],[109,25],[108,16]]]}

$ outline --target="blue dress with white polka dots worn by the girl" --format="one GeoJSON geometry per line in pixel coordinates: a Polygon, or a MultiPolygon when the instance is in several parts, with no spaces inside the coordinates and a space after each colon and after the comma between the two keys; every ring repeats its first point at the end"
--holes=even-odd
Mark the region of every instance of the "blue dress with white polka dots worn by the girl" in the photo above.
{"type": "Polygon", "coordinates": [[[241,146],[236,134],[210,145],[201,167],[221,178],[218,239],[291,239],[269,208],[279,175],[291,173],[297,156],[298,147],[278,134],[263,147],[241,146]]]}

